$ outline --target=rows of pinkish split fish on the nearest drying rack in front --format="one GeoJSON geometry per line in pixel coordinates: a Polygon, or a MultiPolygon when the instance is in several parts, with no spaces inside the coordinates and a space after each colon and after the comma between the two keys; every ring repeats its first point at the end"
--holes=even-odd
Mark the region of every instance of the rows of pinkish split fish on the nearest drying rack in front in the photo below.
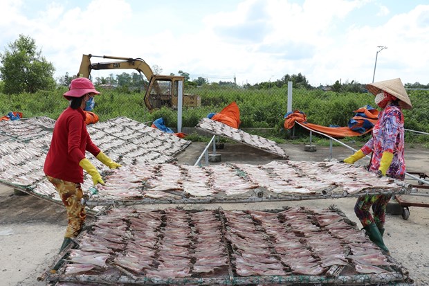
{"type": "Polygon", "coordinates": [[[203,278],[211,284],[211,278],[254,281],[291,274],[320,280],[332,277],[331,269],[339,269],[338,280],[347,281],[361,278],[360,274],[404,277],[395,270],[401,266],[369,238],[347,242],[348,235],[340,235],[341,230],[362,233],[335,208],[270,212],[111,208],[77,237],[77,249],[69,249],[57,278],[73,277],[82,283],[86,277],[100,276],[109,281],[118,269],[122,278],[154,278],[159,284],[172,278],[187,283],[203,278]]]}

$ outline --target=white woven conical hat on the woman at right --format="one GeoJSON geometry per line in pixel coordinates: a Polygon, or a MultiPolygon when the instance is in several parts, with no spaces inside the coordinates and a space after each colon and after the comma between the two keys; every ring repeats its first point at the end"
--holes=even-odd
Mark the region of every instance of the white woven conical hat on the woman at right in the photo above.
{"type": "Polygon", "coordinates": [[[367,89],[370,93],[376,96],[380,89],[386,91],[387,93],[392,94],[395,98],[401,100],[399,105],[405,109],[412,109],[411,100],[408,97],[407,91],[401,82],[400,78],[395,78],[394,80],[384,80],[383,82],[373,82],[367,84],[367,89]]]}

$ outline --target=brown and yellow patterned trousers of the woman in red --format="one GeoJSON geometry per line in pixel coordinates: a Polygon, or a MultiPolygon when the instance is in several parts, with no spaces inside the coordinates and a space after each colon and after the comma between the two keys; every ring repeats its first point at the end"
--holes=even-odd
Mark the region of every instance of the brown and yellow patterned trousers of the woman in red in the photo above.
{"type": "Polygon", "coordinates": [[[63,181],[62,179],[55,179],[50,176],[46,177],[55,186],[66,207],[69,224],[67,225],[64,238],[75,238],[80,233],[80,229],[82,229],[82,224],[86,218],[85,207],[80,204],[80,199],[83,196],[82,188],[80,188],[79,183],[63,181]]]}

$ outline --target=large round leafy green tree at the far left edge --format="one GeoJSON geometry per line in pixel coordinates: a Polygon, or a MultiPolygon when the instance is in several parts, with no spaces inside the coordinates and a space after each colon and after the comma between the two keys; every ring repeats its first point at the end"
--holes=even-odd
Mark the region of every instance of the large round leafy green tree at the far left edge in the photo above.
{"type": "Polygon", "coordinates": [[[0,53],[0,78],[4,82],[4,93],[35,93],[55,87],[55,68],[42,56],[42,51],[37,51],[34,39],[19,35],[19,39],[8,46],[9,49],[0,53]]]}

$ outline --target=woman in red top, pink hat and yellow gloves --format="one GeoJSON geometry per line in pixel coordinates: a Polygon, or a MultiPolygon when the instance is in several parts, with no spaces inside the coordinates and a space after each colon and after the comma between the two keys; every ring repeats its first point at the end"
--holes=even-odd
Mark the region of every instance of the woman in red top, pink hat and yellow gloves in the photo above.
{"type": "Polygon", "coordinates": [[[94,186],[104,184],[98,170],[85,158],[85,151],[111,169],[120,167],[100,151],[86,131],[84,110],[93,107],[93,96],[97,94],[100,92],[95,90],[91,80],[76,78],[71,81],[69,91],[64,93],[70,105],[55,123],[51,147],[44,163],[44,172],[60,193],[69,218],[60,252],[71,242],[71,238],[80,233],[86,218],[85,207],[80,204],[83,196],[80,186],[84,181],[83,170],[91,175],[94,186]]]}

